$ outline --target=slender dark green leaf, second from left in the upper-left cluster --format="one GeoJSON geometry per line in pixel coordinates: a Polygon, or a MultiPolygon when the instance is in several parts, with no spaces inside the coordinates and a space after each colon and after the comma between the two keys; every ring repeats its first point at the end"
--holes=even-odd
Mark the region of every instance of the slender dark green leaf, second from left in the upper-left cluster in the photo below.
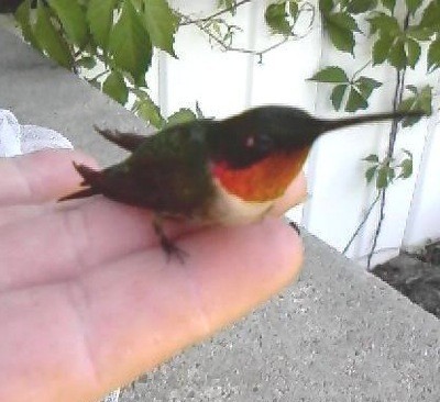
{"type": "Polygon", "coordinates": [[[38,41],[40,48],[57,62],[61,66],[70,68],[73,57],[67,43],[52,23],[48,10],[42,1],[37,2],[36,22],[34,26],[35,38],[38,41]]]}

